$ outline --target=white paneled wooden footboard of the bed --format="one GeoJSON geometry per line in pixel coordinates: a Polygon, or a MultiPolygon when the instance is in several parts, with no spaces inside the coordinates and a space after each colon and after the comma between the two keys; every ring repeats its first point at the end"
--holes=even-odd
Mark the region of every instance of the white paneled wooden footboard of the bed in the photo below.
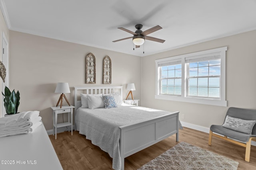
{"type": "Polygon", "coordinates": [[[179,112],[170,113],[134,125],[120,126],[121,170],[124,170],[124,158],[143,150],[173,134],[179,141],[179,112]]]}

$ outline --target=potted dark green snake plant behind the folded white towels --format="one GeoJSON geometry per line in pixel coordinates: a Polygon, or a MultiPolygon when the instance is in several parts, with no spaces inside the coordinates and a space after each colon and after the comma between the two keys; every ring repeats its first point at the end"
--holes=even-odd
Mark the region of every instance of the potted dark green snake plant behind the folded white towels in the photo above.
{"type": "Polygon", "coordinates": [[[4,107],[7,115],[18,113],[17,111],[20,105],[20,92],[17,91],[17,93],[15,93],[14,90],[11,92],[9,88],[5,86],[4,93],[2,92],[2,95],[4,96],[4,107]]]}

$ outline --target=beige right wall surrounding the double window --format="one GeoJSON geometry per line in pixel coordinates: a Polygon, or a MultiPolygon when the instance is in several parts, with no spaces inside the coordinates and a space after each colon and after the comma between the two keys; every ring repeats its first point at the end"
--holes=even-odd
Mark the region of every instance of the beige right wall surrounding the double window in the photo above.
{"type": "Polygon", "coordinates": [[[228,47],[226,52],[228,107],[256,109],[256,31],[143,57],[142,106],[180,111],[180,121],[203,127],[222,124],[228,107],[155,99],[155,60],[225,46],[228,47]],[[181,114],[185,115],[185,119],[181,119],[181,114]]]}

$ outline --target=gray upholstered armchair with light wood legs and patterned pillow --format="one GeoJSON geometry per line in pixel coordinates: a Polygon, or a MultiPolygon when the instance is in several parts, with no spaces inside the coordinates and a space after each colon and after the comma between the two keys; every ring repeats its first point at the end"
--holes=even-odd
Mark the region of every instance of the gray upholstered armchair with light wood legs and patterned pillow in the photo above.
{"type": "Polygon", "coordinates": [[[249,162],[251,141],[256,141],[255,121],[256,110],[230,107],[226,113],[226,118],[223,125],[211,125],[208,145],[212,145],[212,136],[215,136],[242,147],[246,147],[245,161],[249,162]],[[224,135],[224,137],[221,135],[224,135]],[[233,139],[241,142],[235,141],[233,139]]]}

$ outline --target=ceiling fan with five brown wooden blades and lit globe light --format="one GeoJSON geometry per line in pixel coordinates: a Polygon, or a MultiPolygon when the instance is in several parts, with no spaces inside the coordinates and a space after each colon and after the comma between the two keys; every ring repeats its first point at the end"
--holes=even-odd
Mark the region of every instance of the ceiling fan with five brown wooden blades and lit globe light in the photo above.
{"type": "Polygon", "coordinates": [[[165,40],[163,40],[163,39],[158,39],[158,38],[155,38],[155,37],[147,36],[150,33],[153,33],[155,31],[158,31],[159,29],[162,29],[162,27],[160,27],[159,25],[156,25],[155,27],[147,29],[146,31],[142,31],[141,30],[142,27],[143,27],[142,24],[135,25],[135,28],[137,29],[135,32],[132,32],[128,29],[119,27],[118,29],[122,29],[123,31],[131,33],[133,35],[133,37],[118,39],[118,40],[112,41],[112,42],[117,42],[117,41],[122,41],[122,40],[125,40],[125,39],[132,38],[132,41],[133,41],[134,45],[136,45],[136,48],[139,48],[140,45],[142,45],[144,43],[145,39],[150,40],[150,41],[156,41],[156,42],[159,42],[159,43],[164,43],[165,40]]]}

